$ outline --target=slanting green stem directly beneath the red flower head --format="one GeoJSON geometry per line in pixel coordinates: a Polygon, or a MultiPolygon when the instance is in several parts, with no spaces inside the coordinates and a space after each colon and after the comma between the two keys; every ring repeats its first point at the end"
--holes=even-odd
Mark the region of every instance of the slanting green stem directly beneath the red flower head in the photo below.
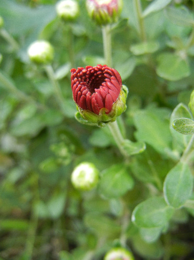
{"type": "Polygon", "coordinates": [[[127,157],[126,151],[123,149],[122,144],[124,143],[124,138],[122,137],[122,134],[120,132],[120,129],[118,127],[117,121],[108,123],[109,129],[113,135],[113,138],[116,142],[116,145],[120,151],[120,153],[127,157]]]}

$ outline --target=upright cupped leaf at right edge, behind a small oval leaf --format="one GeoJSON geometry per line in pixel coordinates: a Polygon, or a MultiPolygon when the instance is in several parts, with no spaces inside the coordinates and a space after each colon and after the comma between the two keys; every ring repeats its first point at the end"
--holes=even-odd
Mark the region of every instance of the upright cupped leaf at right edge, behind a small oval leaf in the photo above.
{"type": "Polygon", "coordinates": [[[182,153],[185,148],[187,147],[191,136],[188,135],[183,135],[179,132],[177,132],[173,127],[172,127],[172,122],[181,117],[186,117],[191,119],[191,112],[188,109],[188,107],[182,103],[178,104],[170,117],[170,132],[172,134],[172,141],[173,141],[173,148],[178,151],[179,153],[182,153]]]}

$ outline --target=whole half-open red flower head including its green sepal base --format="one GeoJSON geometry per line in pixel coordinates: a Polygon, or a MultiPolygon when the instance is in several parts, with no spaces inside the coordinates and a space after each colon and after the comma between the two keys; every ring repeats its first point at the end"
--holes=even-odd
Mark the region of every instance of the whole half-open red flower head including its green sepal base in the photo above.
{"type": "Polygon", "coordinates": [[[116,69],[98,64],[71,73],[73,98],[83,119],[100,125],[125,111],[128,90],[116,69]]]}

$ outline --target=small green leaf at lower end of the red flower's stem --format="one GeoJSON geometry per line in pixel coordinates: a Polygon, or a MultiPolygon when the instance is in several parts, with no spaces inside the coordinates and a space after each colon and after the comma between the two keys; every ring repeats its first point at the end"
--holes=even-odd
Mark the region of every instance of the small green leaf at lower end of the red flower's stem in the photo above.
{"type": "Polygon", "coordinates": [[[137,155],[145,151],[146,145],[143,142],[131,142],[128,139],[124,140],[124,143],[122,144],[124,150],[127,152],[129,156],[131,155],[137,155]]]}

